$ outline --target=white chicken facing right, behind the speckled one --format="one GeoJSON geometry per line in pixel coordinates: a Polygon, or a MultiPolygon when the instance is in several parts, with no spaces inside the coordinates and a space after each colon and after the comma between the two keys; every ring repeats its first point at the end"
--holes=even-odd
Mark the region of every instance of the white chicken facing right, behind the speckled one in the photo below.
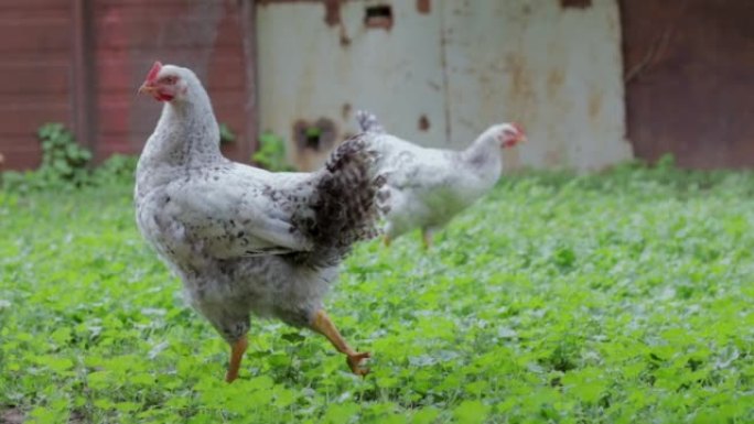
{"type": "Polygon", "coordinates": [[[504,150],[526,140],[520,126],[498,123],[464,151],[426,149],[388,134],[367,111],[358,111],[356,119],[362,131],[378,135],[375,145],[385,157],[387,183],[377,203],[387,222],[386,246],[421,228],[424,248],[429,248],[438,229],[497,183],[504,150]]]}

